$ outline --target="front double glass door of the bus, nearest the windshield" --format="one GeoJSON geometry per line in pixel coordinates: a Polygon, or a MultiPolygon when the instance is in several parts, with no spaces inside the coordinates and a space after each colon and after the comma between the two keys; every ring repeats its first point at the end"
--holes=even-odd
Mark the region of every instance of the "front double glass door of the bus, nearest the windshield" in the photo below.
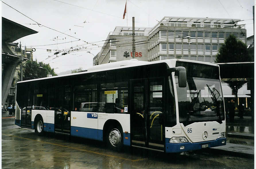
{"type": "Polygon", "coordinates": [[[131,80],[131,144],[164,150],[163,78],[131,80]]]}

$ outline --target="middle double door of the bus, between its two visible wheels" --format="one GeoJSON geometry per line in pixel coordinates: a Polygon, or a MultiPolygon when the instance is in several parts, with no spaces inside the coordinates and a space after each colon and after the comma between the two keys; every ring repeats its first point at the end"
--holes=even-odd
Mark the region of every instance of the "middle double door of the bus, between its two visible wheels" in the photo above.
{"type": "Polygon", "coordinates": [[[59,87],[56,99],[55,132],[70,134],[71,86],[59,87]]]}

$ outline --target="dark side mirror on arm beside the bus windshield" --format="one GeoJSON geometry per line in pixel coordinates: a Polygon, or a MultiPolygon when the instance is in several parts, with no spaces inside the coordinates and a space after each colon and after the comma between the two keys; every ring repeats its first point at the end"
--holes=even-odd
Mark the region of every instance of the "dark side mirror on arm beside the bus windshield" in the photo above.
{"type": "Polygon", "coordinates": [[[178,74],[179,87],[187,87],[186,68],[178,66],[175,68],[168,68],[168,73],[175,72],[178,74]]]}

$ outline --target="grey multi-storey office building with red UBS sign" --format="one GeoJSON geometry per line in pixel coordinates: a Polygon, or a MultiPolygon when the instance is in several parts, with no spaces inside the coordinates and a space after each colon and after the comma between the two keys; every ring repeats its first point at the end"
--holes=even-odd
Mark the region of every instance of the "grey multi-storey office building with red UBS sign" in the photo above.
{"type": "MultiPolygon", "coordinates": [[[[246,43],[245,25],[239,25],[239,21],[165,16],[153,28],[135,28],[135,58],[143,61],[181,58],[214,62],[218,49],[230,34],[246,43]]],[[[131,52],[132,27],[115,27],[94,58],[94,65],[129,60],[131,52]]]]}

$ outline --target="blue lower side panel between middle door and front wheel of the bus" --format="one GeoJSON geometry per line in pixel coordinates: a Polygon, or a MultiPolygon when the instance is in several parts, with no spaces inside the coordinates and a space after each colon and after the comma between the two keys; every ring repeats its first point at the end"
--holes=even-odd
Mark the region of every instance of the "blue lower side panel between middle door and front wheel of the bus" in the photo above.
{"type": "Polygon", "coordinates": [[[103,140],[103,130],[71,126],[70,134],[77,137],[103,140]]]}

